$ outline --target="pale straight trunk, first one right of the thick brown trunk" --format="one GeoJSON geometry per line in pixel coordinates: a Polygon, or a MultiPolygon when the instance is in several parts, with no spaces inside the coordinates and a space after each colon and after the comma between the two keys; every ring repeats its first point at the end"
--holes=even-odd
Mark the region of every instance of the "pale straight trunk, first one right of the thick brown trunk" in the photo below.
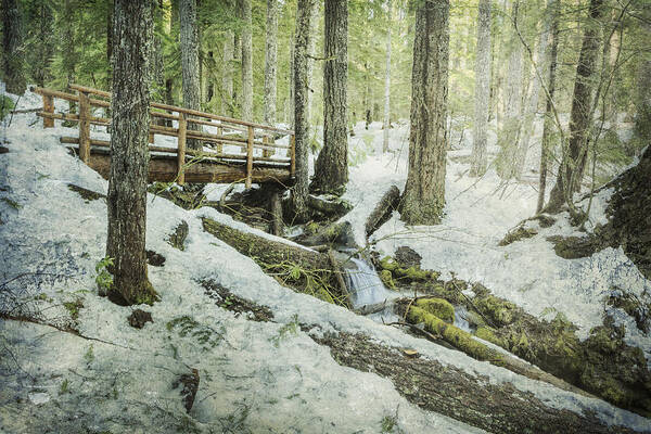
{"type": "Polygon", "coordinates": [[[490,0],[480,0],[475,58],[475,106],[470,176],[484,176],[488,165],[486,132],[490,115],[490,0]]]}

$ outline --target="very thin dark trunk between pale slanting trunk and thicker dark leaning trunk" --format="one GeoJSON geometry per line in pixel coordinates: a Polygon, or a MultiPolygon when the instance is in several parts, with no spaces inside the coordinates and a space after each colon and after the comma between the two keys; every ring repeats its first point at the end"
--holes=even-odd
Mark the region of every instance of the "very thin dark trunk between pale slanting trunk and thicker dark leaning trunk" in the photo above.
{"type": "Polygon", "coordinates": [[[552,143],[551,135],[553,128],[553,95],[556,92],[556,71],[559,52],[559,8],[557,0],[548,2],[548,13],[551,20],[551,49],[548,53],[549,75],[547,76],[547,108],[545,111],[545,123],[542,124],[542,140],[540,141],[540,179],[538,182],[538,204],[536,213],[540,213],[545,206],[545,191],[547,190],[547,171],[549,170],[548,162],[551,156],[552,143]]]}

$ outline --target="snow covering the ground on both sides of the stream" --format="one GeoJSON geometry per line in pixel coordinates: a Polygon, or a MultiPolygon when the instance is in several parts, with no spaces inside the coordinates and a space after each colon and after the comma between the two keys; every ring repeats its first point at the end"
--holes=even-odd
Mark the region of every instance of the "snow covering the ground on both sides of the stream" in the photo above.
{"type": "MultiPolygon", "coordinates": [[[[38,105],[40,98],[29,93],[21,100],[21,107],[38,105]]],[[[376,125],[370,133],[378,145],[376,125]]],[[[252,259],[204,232],[201,218],[242,224],[215,209],[188,212],[159,197],[148,201],[146,242],[148,248],[166,257],[164,267],[149,268],[162,301],[145,307],[153,323],[132,329],[126,319],[131,308],[97,295],[94,267],[105,254],[105,201],[86,202],[67,187],[74,183],[105,193],[107,183],[67,153],[59,143],[62,135],[74,131],[42,130],[34,114],[14,116],[11,128],[2,130],[10,152],[0,156],[0,283],[21,273],[65,276],[46,285],[34,283],[38,277],[22,280],[21,290],[31,301],[36,297],[34,303],[50,318],[65,315],[62,304],[79,298],[84,307],[78,329],[95,341],[42,326],[0,321],[0,350],[11,350],[11,358],[5,352],[0,360],[0,432],[74,432],[73,427],[85,426],[90,432],[130,433],[193,432],[192,427],[196,432],[375,433],[386,418],[395,421],[396,432],[481,432],[409,404],[386,379],[340,366],[297,323],[318,324],[323,332],[361,332],[390,346],[414,348],[423,357],[485,375],[493,383],[511,382],[551,407],[595,412],[609,424],[651,432],[649,420],[602,400],[478,362],[282,288],[252,259]],[[165,242],[181,220],[189,225],[183,252],[165,242]],[[203,279],[268,306],[273,321],[235,317],[204,294],[199,283],[203,279]],[[204,333],[209,340],[182,333],[175,320],[186,321],[191,333],[204,333]],[[190,368],[199,370],[201,383],[187,417],[171,383],[190,368]]],[[[357,233],[365,213],[388,184],[403,188],[406,137],[405,128],[392,130],[392,146],[403,149],[399,156],[380,155],[375,146],[375,155],[352,168],[346,196],[356,205],[348,218],[357,233]]],[[[596,323],[596,306],[601,305],[591,297],[615,279],[608,267],[614,267],[615,260],[625,263],[624,255],[612,251],[601,259],[563,261],[551,257],[545,241],[527,242],[534,252],[527,252],[524,243],[496,247],[507,229],[531,216],[535,192],[514,184],[502,195],[493,175],[474,184],[463,171],[462,165],[448,165],[448,206],[442,226],[405,228],[394,217],[375,235],[384,238],[379,247],[391,253],[395,246],[412,245],[426,267],[483,281],[535,314],[551,306],[584,328],[596,323]],[[574,288],[577,281],[584,283],[574,288]]],[[[629,282],[630,276],[617,279],[629,282]]],[[[648,282],[639,284],[648,286],[648,282]]]]}

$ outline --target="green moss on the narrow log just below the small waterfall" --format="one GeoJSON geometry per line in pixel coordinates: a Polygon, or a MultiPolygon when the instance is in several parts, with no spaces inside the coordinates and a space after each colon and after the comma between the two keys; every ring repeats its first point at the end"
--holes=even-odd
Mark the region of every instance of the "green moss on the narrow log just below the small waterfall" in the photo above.
{"type": "Polygon", "coordinates": [[[425,309],[418,306],[411,306],[407,318],[412,323],[424,323],[425,330],[430,333],[443,337],[446,342],[449,342],[455,347],[477,360],[489,360],[492,363],[498,366],[500,366],[503,360],[499,353],[473,340],[470,333],[448,324],[425,309]]]}

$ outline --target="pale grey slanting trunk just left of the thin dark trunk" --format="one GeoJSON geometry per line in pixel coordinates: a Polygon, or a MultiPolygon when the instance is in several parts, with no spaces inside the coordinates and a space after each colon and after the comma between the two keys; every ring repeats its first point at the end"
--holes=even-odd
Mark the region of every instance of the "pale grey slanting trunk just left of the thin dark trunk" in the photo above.
{"type": "MultiPolygon", "coordinates": [[[[551,11],[551,8],[554,8],[554,0],[547,0],[547,9],[551,11]]],[[[548,60],[548,47],[549,47],[549,35],[551,31],[552,17],[548,14],[545,17],[545,24],[542,33],[540,34],[540,39],[538,40],[538,52],[537,52],[537,62],[538,65],[533,65],[534,68],[538,67],[542,71],[547,65],[548,60]]],[[[536,119],[536,113],[538,112],[538,98],[540,95],[541,81],[536,72],[534,71],[534,78],[532,84],[532,94],[529,95],[528,103],[526,110],[524,112],[524,122],[522,124],[522,132],[520,135],[520,142],[518,143],[518,154],[515,158],[515,177],[522,177],[524,173],[524,166],[526,164],[526,155],[528,153],[529,139],[534,135],[534,122],[536,119]]]]}

